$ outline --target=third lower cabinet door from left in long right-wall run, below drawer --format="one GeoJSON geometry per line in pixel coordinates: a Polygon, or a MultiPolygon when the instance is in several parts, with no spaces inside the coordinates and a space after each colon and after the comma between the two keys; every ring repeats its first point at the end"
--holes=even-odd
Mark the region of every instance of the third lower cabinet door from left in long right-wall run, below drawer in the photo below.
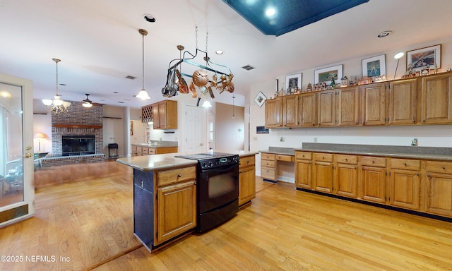
{"type": "Polygon", "coordinates": [[[358,167],[356,164],[337,164],[335,168],[334,193],[357,198],[358,167]]]}

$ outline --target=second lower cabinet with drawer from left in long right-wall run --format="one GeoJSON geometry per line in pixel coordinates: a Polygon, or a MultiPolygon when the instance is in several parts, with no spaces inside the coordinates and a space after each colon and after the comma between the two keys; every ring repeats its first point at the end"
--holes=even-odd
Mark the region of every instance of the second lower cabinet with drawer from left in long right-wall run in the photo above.
{"type": "Polygon", "coordinates": [[[333,155],[317,153],[312,155],[312,187],[316,191],[333,192],[333,155]]]}

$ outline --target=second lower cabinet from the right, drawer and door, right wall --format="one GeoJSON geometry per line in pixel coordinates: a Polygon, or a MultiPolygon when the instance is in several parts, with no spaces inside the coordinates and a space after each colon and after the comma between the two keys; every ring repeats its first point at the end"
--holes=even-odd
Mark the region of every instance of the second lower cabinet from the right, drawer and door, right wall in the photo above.
{"type": "Polygon", "coordinates": [[[389,159],[389,204],[420,210],[420,160],[389,159]]]}

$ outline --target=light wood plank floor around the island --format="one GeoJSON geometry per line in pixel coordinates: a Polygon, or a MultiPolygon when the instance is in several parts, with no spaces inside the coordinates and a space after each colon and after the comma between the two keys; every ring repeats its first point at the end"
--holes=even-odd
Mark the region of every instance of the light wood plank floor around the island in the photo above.
{"type": "Polygon", "coordinates": [[[131,179],[124,169],[40,188],[35,217],[0,229],[0,255],[24,263],[0,262],[0,270],[452,270],[451,223],[258,177],[256,199],[237,217],[151,254],[132,234],[131,179]]]}

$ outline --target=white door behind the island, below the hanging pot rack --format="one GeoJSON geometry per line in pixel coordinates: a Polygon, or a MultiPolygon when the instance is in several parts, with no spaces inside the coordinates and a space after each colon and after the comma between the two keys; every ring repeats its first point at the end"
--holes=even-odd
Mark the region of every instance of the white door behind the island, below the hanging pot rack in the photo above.
{"type": "Polygon", "coordinates": [[[206,109],[185,104],[185,150],[199,153],[207,150],[206,109]]]}

